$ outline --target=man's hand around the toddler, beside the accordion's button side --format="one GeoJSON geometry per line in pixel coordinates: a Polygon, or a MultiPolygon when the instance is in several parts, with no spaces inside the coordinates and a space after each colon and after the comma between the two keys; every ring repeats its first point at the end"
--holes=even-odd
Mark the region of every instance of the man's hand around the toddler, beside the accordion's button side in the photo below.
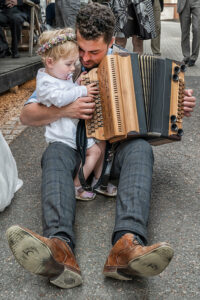
{"type": "Polygon", "coordinates": [[[61,117],[89,120],[94,113],[95,103],[91,97],[78,98],[71,104],[61,108],[61,117]]]}

